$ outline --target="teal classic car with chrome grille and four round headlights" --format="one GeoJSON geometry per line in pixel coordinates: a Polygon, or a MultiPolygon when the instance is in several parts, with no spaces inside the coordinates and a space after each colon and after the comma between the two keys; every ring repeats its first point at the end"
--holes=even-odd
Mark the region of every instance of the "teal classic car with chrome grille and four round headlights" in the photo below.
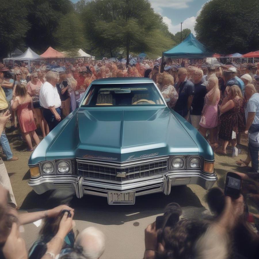
{"type": "Polygon", "coordinates": [[[212,148],[166,101],[151,79],[93,81],[79,108],[32,153],[29,185],[38,194],[65,186],[109,204],[169,195],[175,185],[211,188],[212,148]]]}

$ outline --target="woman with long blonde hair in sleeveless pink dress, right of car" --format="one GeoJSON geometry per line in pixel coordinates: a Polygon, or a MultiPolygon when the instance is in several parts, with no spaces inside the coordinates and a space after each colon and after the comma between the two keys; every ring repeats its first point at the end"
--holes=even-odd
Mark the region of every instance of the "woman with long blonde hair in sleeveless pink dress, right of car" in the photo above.
{"type": "Polygon", "coordinates": [[[199,132],[206,138],[206,132],[210,130],[210,145],[217,144],[217,125],[218,125],[218,102],[220,101],[220,90],[218,88],[218,78],[210,77],[207,85],[208,93],[204,98],[204,106],[201,112],[199,132]]]}

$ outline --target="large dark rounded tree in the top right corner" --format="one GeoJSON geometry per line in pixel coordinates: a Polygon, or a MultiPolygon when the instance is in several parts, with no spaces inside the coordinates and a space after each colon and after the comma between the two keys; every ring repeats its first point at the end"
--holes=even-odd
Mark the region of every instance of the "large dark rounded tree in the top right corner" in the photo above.
{"type": "Polygon", "coordinates": [[[214,52],[246,53],[259,49],[259,2],[212,0],[196,19],[197,39],[214,52]]]}

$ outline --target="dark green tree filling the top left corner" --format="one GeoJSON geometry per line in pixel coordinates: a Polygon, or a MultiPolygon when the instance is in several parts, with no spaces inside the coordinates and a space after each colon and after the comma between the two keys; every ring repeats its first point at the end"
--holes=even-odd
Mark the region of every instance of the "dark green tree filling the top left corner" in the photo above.
{"type": "Polygon", "coordinates": [[[32,1],[0,0],[0,57],[6,58],[7,54],[16,47],[24,45],[24,39],[30,24],[27,20],[28,8],[32,1]]]}

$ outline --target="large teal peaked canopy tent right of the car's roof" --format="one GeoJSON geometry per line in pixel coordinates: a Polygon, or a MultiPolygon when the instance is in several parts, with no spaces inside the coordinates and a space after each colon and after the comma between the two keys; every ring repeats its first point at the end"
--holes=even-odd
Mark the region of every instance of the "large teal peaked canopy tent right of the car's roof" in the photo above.
{"type": "Polygon", "coordinates": [[[166,52],[163,52],[161,72],[164,70],[164,58],[201,59],[210,58],[213,56],[213,54],[214,53],[209,52],[206,47],[197,41],[193,34],[190,33],[182,43],[178,44],[170,50],[167,50],[166,52]]]}

